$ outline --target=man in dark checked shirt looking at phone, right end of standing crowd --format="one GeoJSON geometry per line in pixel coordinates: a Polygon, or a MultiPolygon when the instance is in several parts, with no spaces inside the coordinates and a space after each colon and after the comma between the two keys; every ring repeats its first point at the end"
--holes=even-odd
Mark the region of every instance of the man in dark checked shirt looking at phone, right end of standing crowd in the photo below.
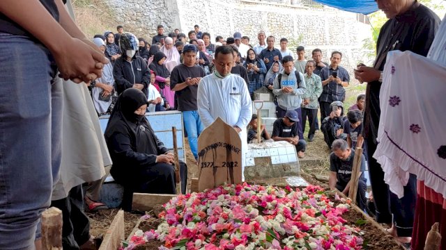
{"type": "Polygon", "coordinates": [[[330,58],[330,65],[321,69],[322,94],[320,99],[321,117],[330,116],[330,103],[333,101],[344,101],[350,76],[344,67],[339,66],[342,60],[342,53],[333,51],[330,58]]]}

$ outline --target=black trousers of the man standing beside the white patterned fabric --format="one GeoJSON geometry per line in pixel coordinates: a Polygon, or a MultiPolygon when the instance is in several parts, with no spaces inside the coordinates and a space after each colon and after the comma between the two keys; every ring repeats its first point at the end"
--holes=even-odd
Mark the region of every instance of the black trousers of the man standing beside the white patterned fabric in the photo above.
{"type": "Polygon", "coordinates": [[[409,181],[404,187],[404,196],[399,199],[397,195],[390,192],[389,185],[384,181],[383,169],[373,158],[377,145],[374,144],[373,140],[366,140],[366,143],[371,191],[374,194],[376,207],[376,221],[387,224],[394,223],[397,226],[399,237],[410,237],[415,219],[417,178],[410,174],[409,181]]]}

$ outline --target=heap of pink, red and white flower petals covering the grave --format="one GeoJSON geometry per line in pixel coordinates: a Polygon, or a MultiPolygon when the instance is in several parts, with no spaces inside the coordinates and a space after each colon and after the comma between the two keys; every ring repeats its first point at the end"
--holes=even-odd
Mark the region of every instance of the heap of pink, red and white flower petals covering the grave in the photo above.
{"type": "Polygon", "coordinates": [[[314,185],[293,190],[246,183],[178,195],[157,215],[157,229],[137,231],[125,250],[150,240],[159,241],[159,249],[361,249],[362,231],[341,217],[350,200],[335,194],[335,205],[329,197],[314,185]]]}

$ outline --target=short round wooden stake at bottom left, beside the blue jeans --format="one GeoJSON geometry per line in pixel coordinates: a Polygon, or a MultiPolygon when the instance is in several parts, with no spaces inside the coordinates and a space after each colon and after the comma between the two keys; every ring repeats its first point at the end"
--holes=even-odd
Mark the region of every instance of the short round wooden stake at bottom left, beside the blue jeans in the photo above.
{"type": "Polygon", "coordinates": [[[43,250],[62,249],[62,211],[48,208],[42,213],[42,247],[43,250]]]}

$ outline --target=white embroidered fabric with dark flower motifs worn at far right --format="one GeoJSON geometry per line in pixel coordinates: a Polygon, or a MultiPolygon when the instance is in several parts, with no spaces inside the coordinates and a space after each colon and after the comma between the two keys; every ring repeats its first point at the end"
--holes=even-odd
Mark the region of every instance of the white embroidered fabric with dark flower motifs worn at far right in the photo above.
{"type": "Polygon", "coordinates": [[[446,197],[446,67],[410,51],[391,51],[383,76],[374,158],[385,182],[401,198],[412,173],[446,197]]]}

